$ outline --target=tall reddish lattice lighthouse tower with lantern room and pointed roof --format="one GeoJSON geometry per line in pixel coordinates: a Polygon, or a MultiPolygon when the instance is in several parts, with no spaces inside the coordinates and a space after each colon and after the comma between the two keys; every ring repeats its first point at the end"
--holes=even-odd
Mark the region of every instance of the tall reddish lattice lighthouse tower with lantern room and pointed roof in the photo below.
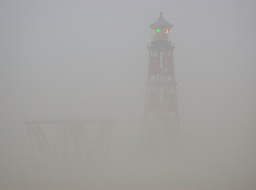
{"type": "Polygon", "coordinates": [[[171,28],[163,13],[151,24],[151,42],[148,44],[148,80],[144,118],[144,143],[147,146],[166,146],[180,142],[180,118],[174,74],[171,28]]]}

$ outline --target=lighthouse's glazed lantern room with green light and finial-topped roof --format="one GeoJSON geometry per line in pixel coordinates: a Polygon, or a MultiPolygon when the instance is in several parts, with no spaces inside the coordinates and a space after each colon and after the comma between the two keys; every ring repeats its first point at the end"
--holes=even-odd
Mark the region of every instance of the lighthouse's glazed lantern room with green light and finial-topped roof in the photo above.
{"type": "Polygon", "coordinates": [[[163,18],[163,12],[160,13],[160,18],[154,24],[149,25],[152,30],[152,45],[167,45],[171,44],[171,28],[173,24],[166,22],[163,18]],[[163,42],[169,41],[169,42],[163,42]]]}

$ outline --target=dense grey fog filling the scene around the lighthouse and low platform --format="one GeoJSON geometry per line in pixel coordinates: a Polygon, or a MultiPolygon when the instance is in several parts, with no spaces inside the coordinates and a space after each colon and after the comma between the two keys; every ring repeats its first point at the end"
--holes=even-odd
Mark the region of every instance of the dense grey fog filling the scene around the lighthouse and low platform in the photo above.
{"type": "MultiPolygon", "coordinates": [[[[0,189],[256,189],[255,1],[1,1],[0,189]],[[149,25],[174,24],[182,148],[141,153],[149,25]],[[107,161],[33,165],[33,120],[115,120],[107,161]]],[[[46,136],[51,136],[47,129],[46,136]]]]}

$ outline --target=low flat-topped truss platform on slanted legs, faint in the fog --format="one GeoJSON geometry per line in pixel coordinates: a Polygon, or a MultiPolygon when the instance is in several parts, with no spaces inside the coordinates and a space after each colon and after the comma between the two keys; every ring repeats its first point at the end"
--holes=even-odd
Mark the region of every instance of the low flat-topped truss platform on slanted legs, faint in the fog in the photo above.
{"type": "Polygon", "coordinates": [[[86,166],[106,159],[113,120],[25,121],[35,164],[86,166]]]}

